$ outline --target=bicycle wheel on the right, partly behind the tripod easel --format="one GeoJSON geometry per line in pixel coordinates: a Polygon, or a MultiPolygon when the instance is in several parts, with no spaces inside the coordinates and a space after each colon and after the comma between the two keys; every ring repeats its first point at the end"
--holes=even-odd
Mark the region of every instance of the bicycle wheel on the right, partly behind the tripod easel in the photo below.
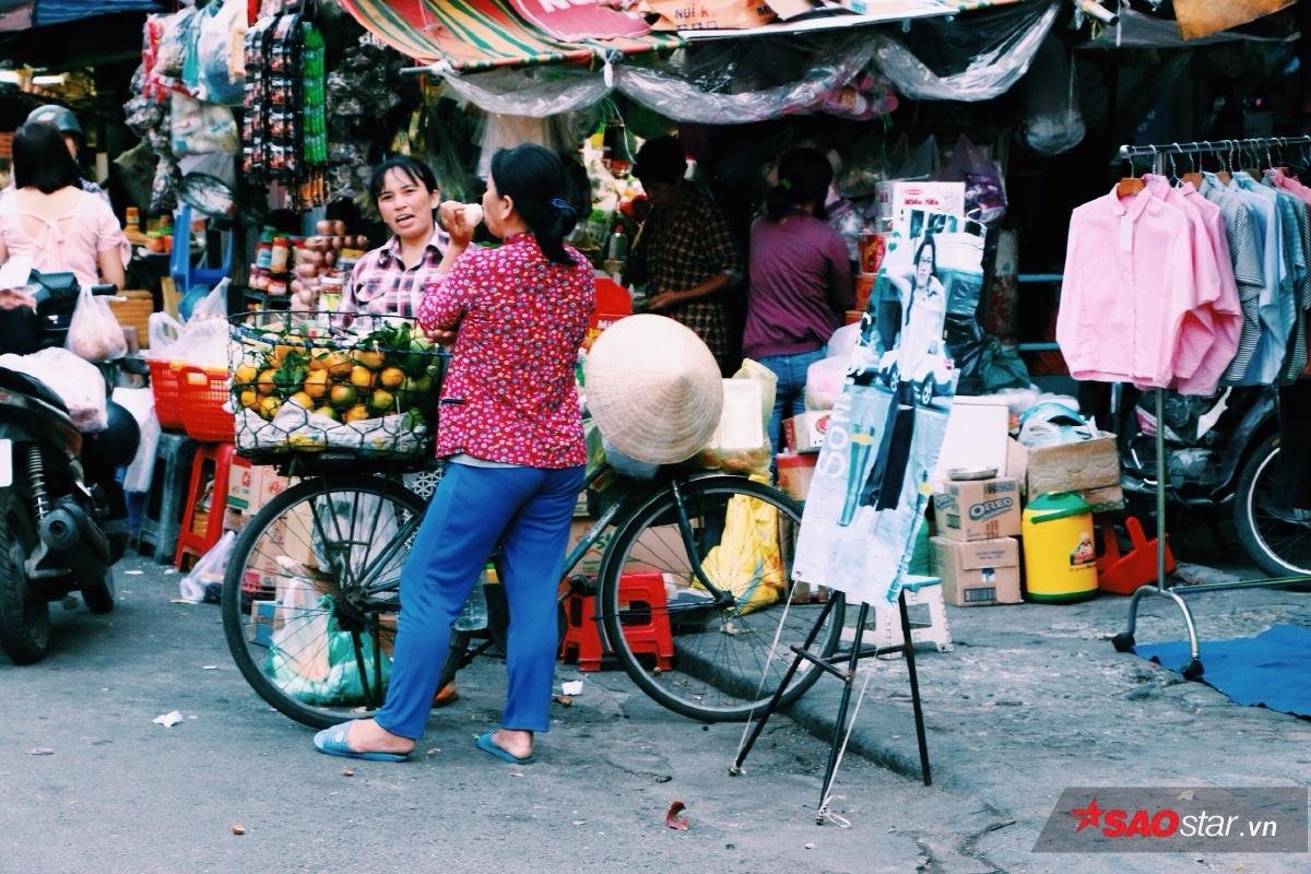
{"type": "MultiPolygon", "coordinates": [[[[606,637],[633,681],[661,705],[707,722],[746,719],[779,688],[792,663],[788,646],[805,642],[825,608],[821,599],[834,603],[812,650],[836,649],[842,595],[792,582],[801,511],[777,489],[708,476],[678,490],[688,537],[666,489],[619,527],[606,550],[598,594],[606,637]],[[649,638],[658,639],[666,621],[674,651],[662,659],[649,653],[649,638]]],[[[817,679],[819,670],[802,662],[783,704],[817,679]]]]}

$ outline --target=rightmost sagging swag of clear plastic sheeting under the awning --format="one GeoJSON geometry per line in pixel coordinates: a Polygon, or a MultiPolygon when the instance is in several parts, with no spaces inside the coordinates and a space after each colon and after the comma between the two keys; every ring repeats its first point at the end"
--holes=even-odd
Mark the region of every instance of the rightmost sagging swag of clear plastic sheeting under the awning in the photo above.
{"type": "Polygon", "coordinates": [[[964,21],[926,21],[916,28],[929,37],[914,46],[880,34],[873,41],[874,64],[906,97],[991,100],[1009,90],[1029,69],[1058,10],[1053,1],[1030,3],[964,21]],[[922,59],[926,56],[927,62],[922,59]]]}

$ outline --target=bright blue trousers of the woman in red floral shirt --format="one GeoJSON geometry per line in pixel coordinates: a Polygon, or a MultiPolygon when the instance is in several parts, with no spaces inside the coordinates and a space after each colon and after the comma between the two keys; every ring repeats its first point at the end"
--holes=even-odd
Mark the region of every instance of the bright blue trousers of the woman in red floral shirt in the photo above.
{"type": "Polygon", "coordinates": [[[451,624],[497,544],[510,607],[509,693],[501,725],[547,731],[558,636],[556,592],[583,468],[451,464],[401,570],[392,679],[378,725],[418,739],[451,642],[451,624]]]}

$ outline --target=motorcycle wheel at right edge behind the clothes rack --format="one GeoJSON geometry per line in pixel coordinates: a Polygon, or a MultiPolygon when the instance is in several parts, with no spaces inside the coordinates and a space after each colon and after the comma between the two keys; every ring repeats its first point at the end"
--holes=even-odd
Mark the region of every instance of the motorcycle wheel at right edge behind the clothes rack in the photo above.
{"type": "Polygon", "coordinates": [[[1280,438],[1266,438],[1243,464],[1234,494],[1234,527],[1252,561],[1266,574],[1311,575],[1311,514],[1277,510],[1273,491],[1278,469],[1280,438]]]}

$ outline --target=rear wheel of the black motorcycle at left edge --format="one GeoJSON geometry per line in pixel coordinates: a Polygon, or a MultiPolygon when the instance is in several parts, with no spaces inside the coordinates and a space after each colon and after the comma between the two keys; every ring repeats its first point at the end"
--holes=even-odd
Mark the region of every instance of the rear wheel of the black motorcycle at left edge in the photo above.
{"type": "Polygon", "coordinates": [[[50,605],[22,569],[35,544],[22,512],[13,490],[0,489],[0,649],[14,664],[31,664],[50,645],[50,605]]]}

